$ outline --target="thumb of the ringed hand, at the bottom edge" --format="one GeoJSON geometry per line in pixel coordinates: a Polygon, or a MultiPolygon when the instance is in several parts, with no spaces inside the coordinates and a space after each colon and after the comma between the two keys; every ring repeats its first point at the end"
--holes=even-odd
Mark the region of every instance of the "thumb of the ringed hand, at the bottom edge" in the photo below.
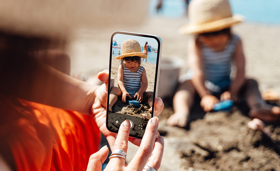
{"type": "Polygon", "coordinates": [[[101,170],[102,164],[106,160],[109,149],[106,146],[102,147],[98,152],[92,154],[88,161],[87,171],[101,170]]]}

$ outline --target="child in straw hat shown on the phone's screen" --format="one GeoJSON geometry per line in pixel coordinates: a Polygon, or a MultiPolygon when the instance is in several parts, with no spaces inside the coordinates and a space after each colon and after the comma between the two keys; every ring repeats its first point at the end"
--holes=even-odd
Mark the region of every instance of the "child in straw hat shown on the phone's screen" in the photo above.
{"type": "Polygon", "coordinates": [[[116,56],[116,59],[121,60],[121,65],[118,68],[118,87],[113,87],[109,95],[109,111],[112,111],[119,96],[123,103],[127,97],[141,103],[148,102],[151,112],[154,93],[146,92],[148,79],[145,68],[141,66],[141,57],[145,59],[147,55],[141,52],[139,42],[134,39],[123,41],[121,54],[116,56]]]}

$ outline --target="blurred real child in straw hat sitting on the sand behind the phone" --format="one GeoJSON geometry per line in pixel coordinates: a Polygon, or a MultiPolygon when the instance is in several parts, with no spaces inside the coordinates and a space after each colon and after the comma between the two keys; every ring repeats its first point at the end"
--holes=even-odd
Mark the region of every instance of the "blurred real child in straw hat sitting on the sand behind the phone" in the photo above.
{"type": "Polygon", "coordinates": [[[194,34],[188,42],[189,71],[173,98],[174,114],[170,126],[187,126],[190,108],[197,93],[200,106],[207,112],[215,103],[244,98],[251,118],[278,121],[280,108],[266,104],[261,98],[258,83],[245,78],[245,57],[240,38],[230,27],[242,22],[232,15],[228,0],[192,0],[189,5],[190,24],[182,27],[182,34],[194,34]],[[235,76],[231,75],[235,63],[235,76]]]}

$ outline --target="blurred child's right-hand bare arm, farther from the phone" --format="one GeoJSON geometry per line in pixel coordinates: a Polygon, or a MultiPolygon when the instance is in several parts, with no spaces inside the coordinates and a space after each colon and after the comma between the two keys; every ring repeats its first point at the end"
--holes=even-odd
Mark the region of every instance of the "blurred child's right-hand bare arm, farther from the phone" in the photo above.
{"type": "Polygon", "coordinates": [[[236,99],[237,93],[245,81],[245,57],[243,54],[241,40],[238,42],[238,45],[236,47],[236,51],[234,54],[234,61],[235,61],[237,71],[236,71],[235,79],[233,80],[233,83],[230,86],[230,94],[233,100],[237,100],[236,99]]]}

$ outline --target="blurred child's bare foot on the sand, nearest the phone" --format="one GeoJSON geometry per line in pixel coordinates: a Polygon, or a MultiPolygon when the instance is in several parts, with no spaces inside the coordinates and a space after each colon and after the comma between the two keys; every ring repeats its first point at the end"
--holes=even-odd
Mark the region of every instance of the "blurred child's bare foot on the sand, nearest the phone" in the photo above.
{"type": "Polygon", "coordinates": [[[167,119],[167,125],[185,127],[187,126],[188,121],[189,121],[188,113],[174,113],[167,119]]]}

